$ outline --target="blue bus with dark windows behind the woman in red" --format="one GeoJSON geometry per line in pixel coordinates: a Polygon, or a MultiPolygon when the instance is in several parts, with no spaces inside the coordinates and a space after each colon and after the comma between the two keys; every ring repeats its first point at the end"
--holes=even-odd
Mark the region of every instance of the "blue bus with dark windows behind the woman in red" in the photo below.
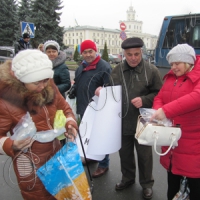
{"type": "Polygon", "coordinates": [[[155,48],[155,65],[170,69],[166,56],[178,44],[187,43],[200,55],[200,13],[164,17],[155,48]]]}

